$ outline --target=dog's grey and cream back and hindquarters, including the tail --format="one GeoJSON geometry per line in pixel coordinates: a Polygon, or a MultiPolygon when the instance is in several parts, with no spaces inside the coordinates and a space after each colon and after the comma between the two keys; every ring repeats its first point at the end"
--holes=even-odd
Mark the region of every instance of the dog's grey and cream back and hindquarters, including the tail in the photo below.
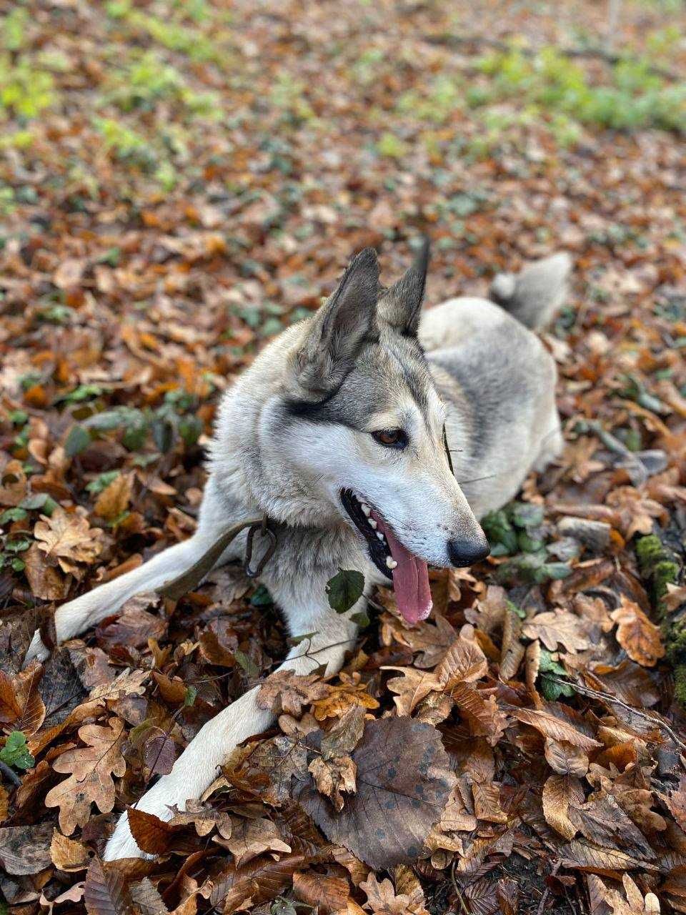
{"type": "Polygon", "coordinates": [[[477,517],[513,498],[530,468],[563,447],[555,363],[532,330],[562,306],[570,268],[567,254],[553,254],[496,277],[489,295],[498,304],[465,296],[423,315],[420,342],[450,404],[456,476],[477,517]]]}

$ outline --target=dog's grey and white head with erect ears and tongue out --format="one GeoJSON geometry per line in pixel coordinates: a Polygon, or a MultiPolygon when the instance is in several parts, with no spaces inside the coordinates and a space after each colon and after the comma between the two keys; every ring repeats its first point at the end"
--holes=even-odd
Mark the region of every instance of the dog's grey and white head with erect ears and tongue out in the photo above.
{"type": "Polygon", "coordinates": [[[376,253],[359,253],[290,351],[271,411],[280,460],[364,537],[411,621],[431,609],[427,563],[488,554],[448,462],[445,406],[417,340],[427,261],[424,246],[384,289],[376,253]]]}

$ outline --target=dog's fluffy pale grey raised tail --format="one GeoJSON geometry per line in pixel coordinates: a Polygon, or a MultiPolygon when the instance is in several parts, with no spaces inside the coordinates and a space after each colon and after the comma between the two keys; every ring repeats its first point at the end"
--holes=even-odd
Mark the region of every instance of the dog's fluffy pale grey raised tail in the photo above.
{"type": "Polygon", "coordinates": [[[542,330],[563,305],[571,270],[569,254],[552,254],[529,264],[520,274],[498,274],[488,297],[526,327],[542,330]]]}

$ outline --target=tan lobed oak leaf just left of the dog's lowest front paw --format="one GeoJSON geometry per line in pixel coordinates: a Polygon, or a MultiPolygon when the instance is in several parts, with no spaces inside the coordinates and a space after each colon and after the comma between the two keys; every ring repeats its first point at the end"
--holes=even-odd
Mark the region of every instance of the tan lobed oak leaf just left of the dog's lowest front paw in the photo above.
{"type": "Polygon", "coordinates": [[[79,737],[87,747],[62,753],[53,763],[56,772],[70,772],[46,795],[46,807],[59,807],[59,828],[70,835],[84,826],[91,816],[91,803],[101,813],[114,806],[113,775],[122,776],[126,763],[122,756],[123,721],[110,718],[106,727],[83,725],[79,737]]]}

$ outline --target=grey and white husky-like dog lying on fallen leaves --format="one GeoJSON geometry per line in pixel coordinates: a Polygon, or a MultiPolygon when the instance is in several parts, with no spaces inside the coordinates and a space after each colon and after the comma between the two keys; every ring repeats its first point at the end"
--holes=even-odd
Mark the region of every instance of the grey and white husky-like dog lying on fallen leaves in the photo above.
{"type": "MultiPolygon", "coordinates": [[[[230,522],[255,514],[269,518],[277,543],[260,580],[291,636],[308,636],[279,669],[300,674],[341,668],[358,631],[351,618],[374,585],[392,582],[413,624],[432,608],[427,565],[487,556],[478,519],[563,447],[555,363],[532,331],[561,306],[570,259],[558,253],[498,276],[492,301],[453,298],[423,314],[427,263],[424,244],[383,287],[377,254],[366,249],[312,317],[273,339],[220,403],[196,532],[60,607],[59,641],[163,587],[208,554],[230,522]],[[326,593],[339,569],[365,581],[344,614],[326,593]]],[[[245,547],[242,532],[215,565],[240,559],[245,547]]],[[[47,654],[37,633],[27,657],[47,654]]],[[[197,798],[237,744],[273,724],[258,690],[202,727],[136,806],[166,820],[172,805],[197,798]]],[[[123,813],[105,859],[133,856],[143,852],[123,813]]]]}

